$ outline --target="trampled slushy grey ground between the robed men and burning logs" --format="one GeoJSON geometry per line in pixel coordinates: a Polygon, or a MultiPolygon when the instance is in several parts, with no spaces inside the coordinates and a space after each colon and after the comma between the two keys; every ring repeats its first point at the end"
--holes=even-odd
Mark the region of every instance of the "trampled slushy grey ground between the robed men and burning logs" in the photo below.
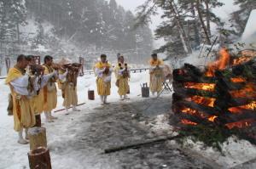
{"type": "Polygon", "coordinates": [[[49,143],[54,168],[210,168],[166,144],[102,154],[103,149],[152,137],[148,128],[138,123],[147,116],[131,117],[145,103],[150,101],[101,106],[89,115],[85,111],[77,113],[79,118],[68,121],[64,135],[55,126],[55,137],[59,139],[49,143]]]}

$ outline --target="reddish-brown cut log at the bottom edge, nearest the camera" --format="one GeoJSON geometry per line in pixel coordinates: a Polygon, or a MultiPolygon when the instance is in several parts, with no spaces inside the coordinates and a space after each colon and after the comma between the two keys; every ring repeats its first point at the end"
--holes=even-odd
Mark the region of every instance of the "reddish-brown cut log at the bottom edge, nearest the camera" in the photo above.
{"type": "Polygon", "coordinates": [[[31,169],[51,169],[49,149],[38,147],[28,154],[29,166],[31,169]]]}

